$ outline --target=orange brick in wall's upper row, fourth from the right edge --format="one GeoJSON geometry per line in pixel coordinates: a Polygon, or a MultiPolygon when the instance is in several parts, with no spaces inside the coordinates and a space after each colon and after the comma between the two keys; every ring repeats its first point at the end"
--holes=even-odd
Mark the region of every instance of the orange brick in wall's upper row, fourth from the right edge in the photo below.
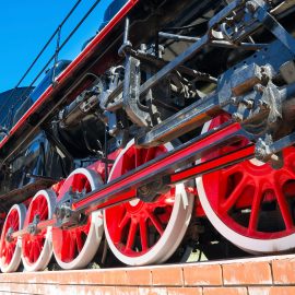
{"type": "Polygon", "coordinates": [[[156,268],[152,270],[153,285],[165,286],[182,286],[182,269],[174,268],[156,268]]]}

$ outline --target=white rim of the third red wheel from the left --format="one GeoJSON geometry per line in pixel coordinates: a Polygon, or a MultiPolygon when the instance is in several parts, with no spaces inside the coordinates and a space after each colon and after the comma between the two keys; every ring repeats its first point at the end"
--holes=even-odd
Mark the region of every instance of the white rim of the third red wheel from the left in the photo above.
{"type": "MultiPolygon", "coordinates": [[[[88,179],[92,190],[95,190],[99,186],[103,185],[103,180],[101,176],[94,170],[86,169],[86,168],[78,168],[73,170],[70,174],[70,176],[75,175],[75,174],[84,175],[88,179]]],[[[72,261],[64,262],[60,259],[59,255],[57,253],[54,247],[54,255],[57,260],[57,263],[64,270],[81,269],[81,268],[86,267],[92,261],[92,259],[94,258],[99,247],[103,233],[104,233],[104,226],[103,226],[102,213],[101,211],[95,211],[91,214],[90,231],[88,231],[85,244],[81,252],[72,261]]],[[[52,238],[55,238],[55,234],[52,234],[52,238]]]]}

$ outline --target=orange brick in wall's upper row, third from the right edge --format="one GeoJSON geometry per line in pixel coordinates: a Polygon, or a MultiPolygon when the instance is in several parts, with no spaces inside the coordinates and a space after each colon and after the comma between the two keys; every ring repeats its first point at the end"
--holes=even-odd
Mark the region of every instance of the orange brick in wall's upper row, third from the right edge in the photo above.
{"type": "Polygon", "coordinates": [[[222,285],[222,270],[219,264],[184,267],[185,285],[222,285]]]}

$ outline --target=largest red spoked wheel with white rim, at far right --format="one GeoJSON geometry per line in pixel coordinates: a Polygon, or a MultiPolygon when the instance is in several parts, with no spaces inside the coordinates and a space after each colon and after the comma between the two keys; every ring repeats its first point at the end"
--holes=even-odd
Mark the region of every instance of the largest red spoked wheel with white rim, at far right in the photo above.
{"type": "MultiPolygon", "coordinates": [[[[220,116],[208,122],[202,132],[226,120],[226,116],[220,116]]],[[[246,143],[221,148],[212,156],[246,143]]],[[[213,226],[249,252],[270,253],[294,248],[294,160],[295,149],[291,146],[283,151],[284,163],[279,169],[250,160],[197,178],[201,204],[213,226]]]]}

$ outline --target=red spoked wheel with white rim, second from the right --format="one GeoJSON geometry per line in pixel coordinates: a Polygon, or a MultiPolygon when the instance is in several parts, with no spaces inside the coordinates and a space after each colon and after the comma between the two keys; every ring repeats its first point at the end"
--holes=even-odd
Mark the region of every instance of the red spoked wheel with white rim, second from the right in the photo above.
{"type": "MultiPolygon", "coordinates": [[[[117,157],[109,181],[173,149],[172,144],[137,149],[128,143],[117,157]]],[[[179,246],[192,210],[193,197],[184,185],[158,196],[154,202],[134,199],[104,211],[105,233],[114,255],[129,266],[160,263],[179,246]]]]}

